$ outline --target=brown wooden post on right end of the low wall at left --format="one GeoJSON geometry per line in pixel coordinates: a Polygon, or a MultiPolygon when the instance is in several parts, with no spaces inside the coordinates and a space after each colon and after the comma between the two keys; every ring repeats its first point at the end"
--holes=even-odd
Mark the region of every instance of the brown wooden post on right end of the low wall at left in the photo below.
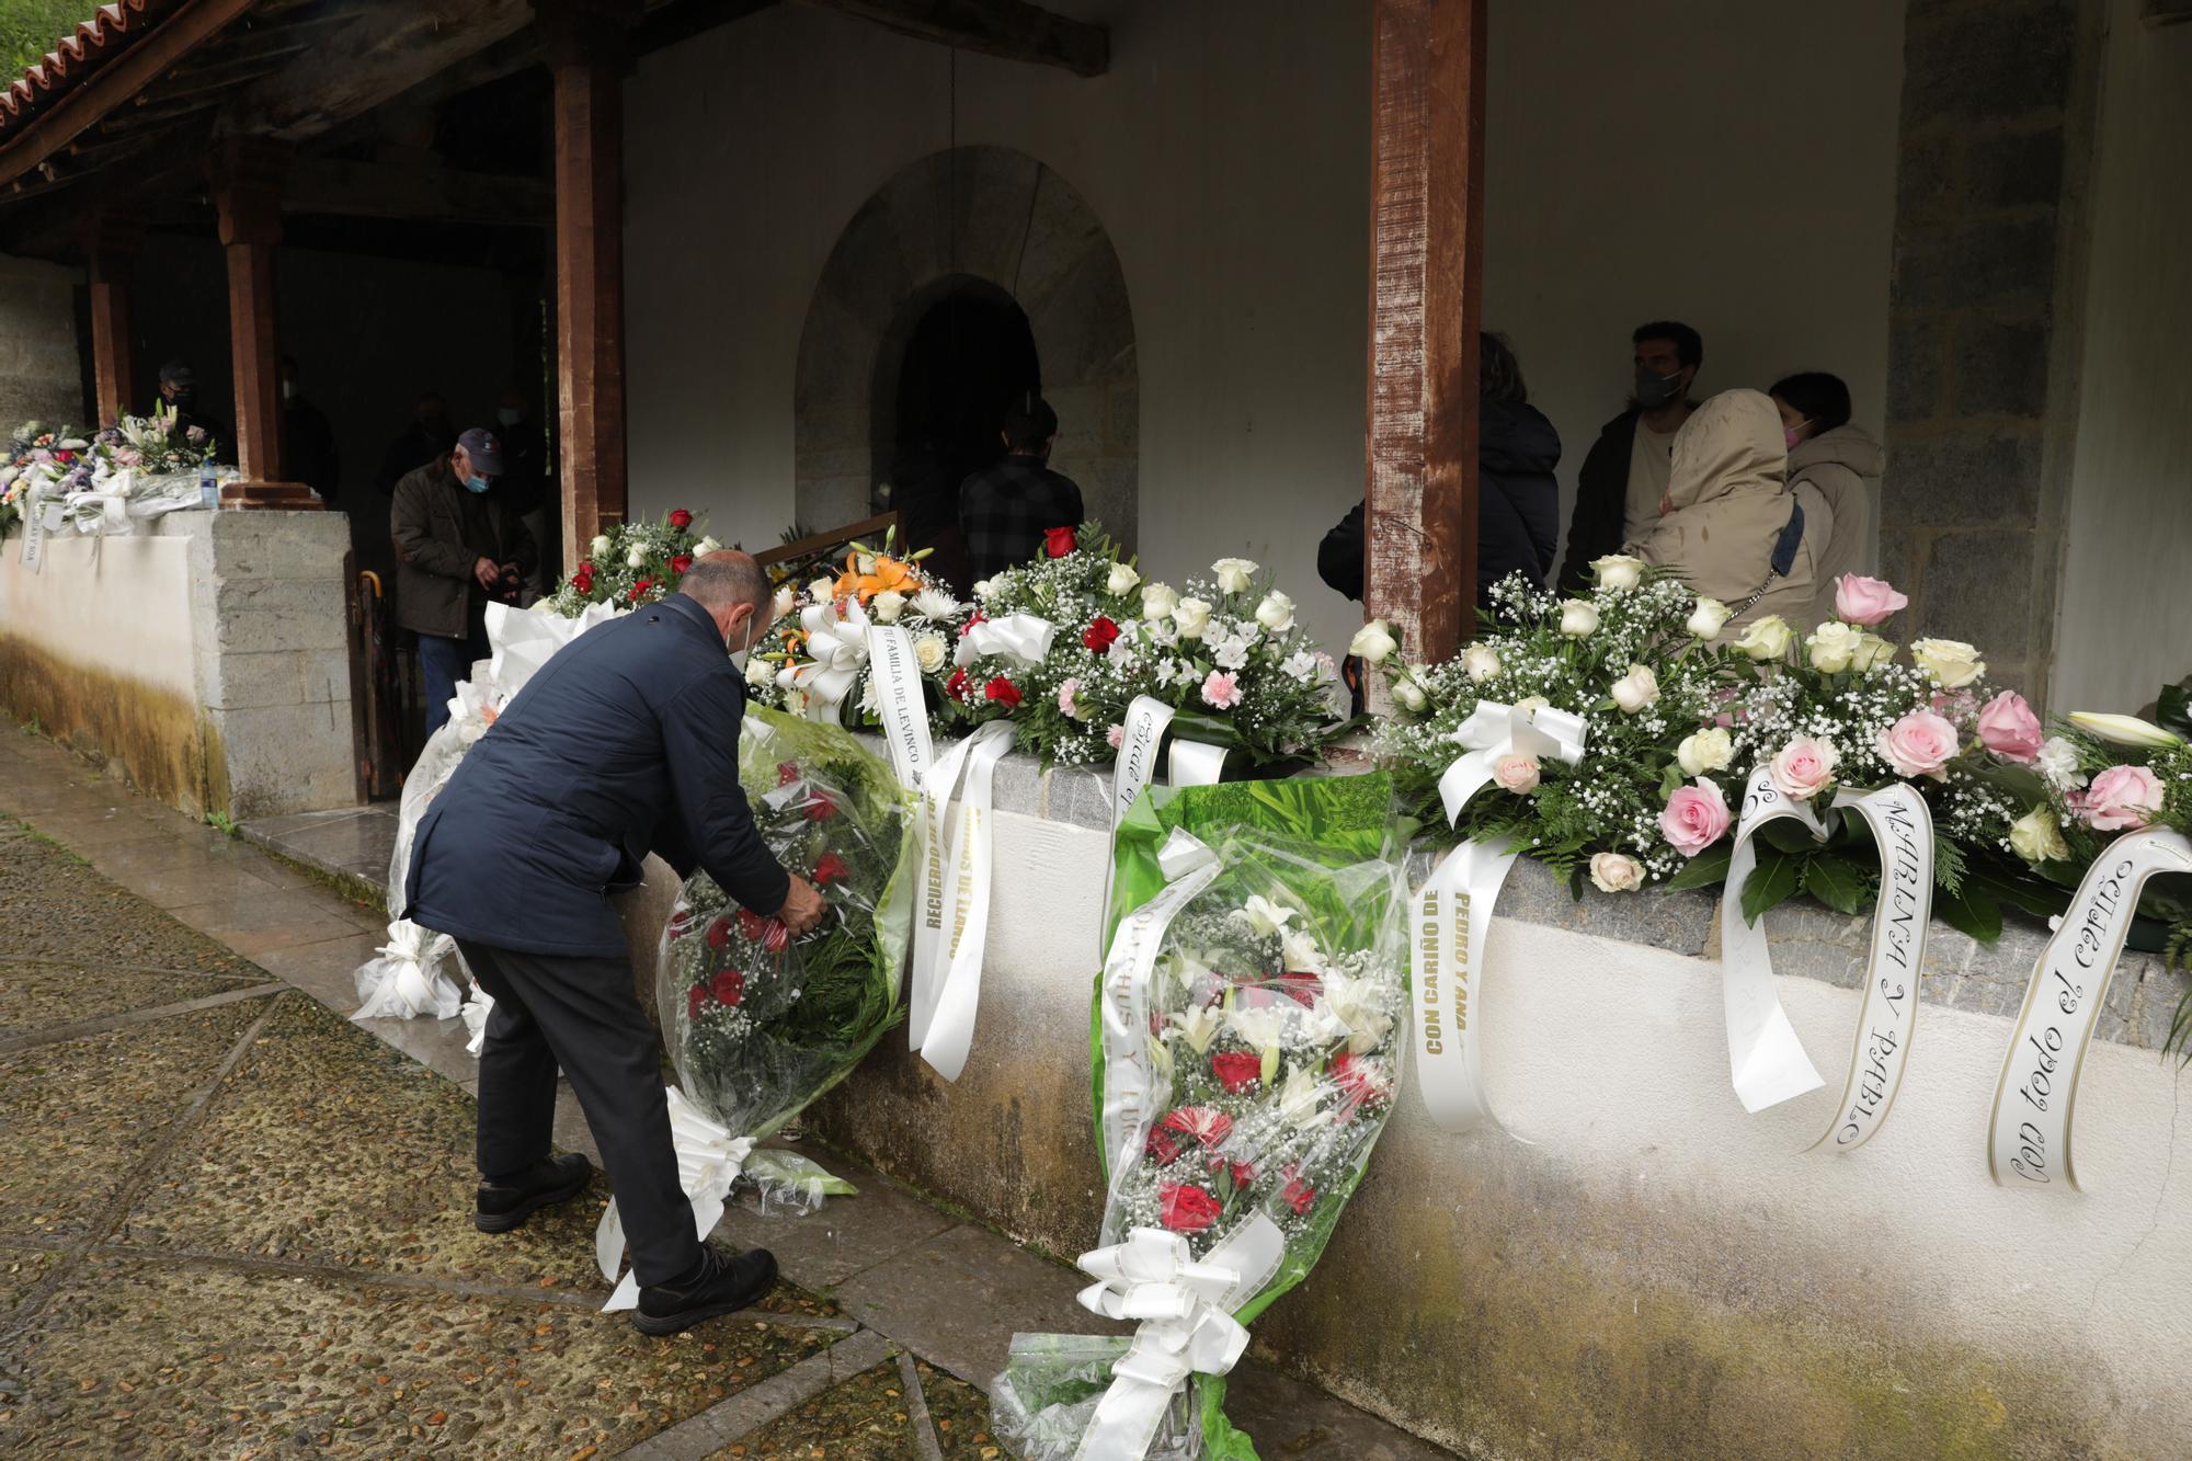
{"type": "MultiPolygon", "coordinates": [[[[281,244],[281,169],[285,160],[287,149],[256,140],[232,140],[213,160],[213,202],[221,217],[221,246],[228,250],[237,469],[243,472],[246,483],[281,483],[283,472],[274,246],[281,244]]],[[[292,502],[281,505],[292,507],[292,502]]]]}

